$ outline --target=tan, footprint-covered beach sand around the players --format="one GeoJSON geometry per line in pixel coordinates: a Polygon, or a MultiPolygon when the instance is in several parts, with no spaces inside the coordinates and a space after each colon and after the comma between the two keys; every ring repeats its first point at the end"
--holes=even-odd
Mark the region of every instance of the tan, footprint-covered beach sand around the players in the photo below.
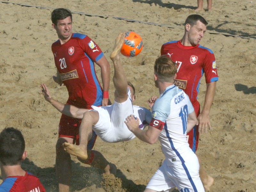
{"type": "MultiPolygon", "coordinates": [[[[73,14],[73,32],[88,35],[101,47],[111,64],[111,77],[113,65],[109,54],[117,34],[121,31],[140,34],[144,44],[142,52],[134,58],[122,57],[122,63],[128,80],[136,89],[134,104],[147,107],[146,100],[159,95],[153,82],[153,64],[160,55],[161,45],[181,39],[184,21],[195,13],[197,4],[195,0],[7,2],[47,7],[0,3],[0,130],[13,126],[22,131],[28,151],[22,167],[37,175],[47,192],[54,192],[58,189],[54,166],[61,114],[44,100],[39,85],[47,84],[52,96],[61,102],[68,99],[68,92],[66,87],[60,87],[52,80],[56,68],[51,45],[58,39],[51,25],[52,8],[65,7],[87,13],[73,14]],[[165,26],[128,22],[111,16],[165,26]]],[[[207,173],[215,179],[210,191],[254,192],[256,1],[220,0],[213,1],[212,7],[212,12],[199,12],[209,22],[200,44],[214,52],[219,81],[210,114],[212,130],[201,134],[197,154],[207,173]]],[[[100,77],[98,66],[96,71],[100,77]]],[[[205,89],[203,77],[198,95],[201,105],[204,104],[205,89]]],[[[113,82],[110,82],[112,101],[113,93],[113,82]]],[[[81,164],[72,157],[70,191],[140,192],[164,160],[158,141],[154,145],[137,138],[105,143],[98,138],[94,149],[116,164],[116,177],[106,176],[101,170],[81,164]]]]}

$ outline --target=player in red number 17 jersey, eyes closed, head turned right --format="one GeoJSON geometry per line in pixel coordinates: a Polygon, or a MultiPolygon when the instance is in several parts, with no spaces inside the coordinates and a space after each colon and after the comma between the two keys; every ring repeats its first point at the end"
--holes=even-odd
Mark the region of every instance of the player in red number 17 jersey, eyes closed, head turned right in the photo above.
{"type": "MultiPolygon", "coordinates": [[[[199,132],[207,132],[211,129],[210,108],[218,81],[217,67],[212,50],[199,45],[206,31],[208,23],[200,15],[190,15],[185,21],[185,34],[180,41],[171,41],[162,45],[161,55],[169,56],[176,62],[177,77],[174,80],[176,86],[188,94],[198,118],[198,126],[188,133],[190,148],[196,152],[199,132]],[[206,93],[202,112],[197,101],[197,94],[201,77],[205,74],[206,93]]],[[[208,176],[200,163],[200,178],[205,189],[213,184],[213,178],[208,176]]]]}

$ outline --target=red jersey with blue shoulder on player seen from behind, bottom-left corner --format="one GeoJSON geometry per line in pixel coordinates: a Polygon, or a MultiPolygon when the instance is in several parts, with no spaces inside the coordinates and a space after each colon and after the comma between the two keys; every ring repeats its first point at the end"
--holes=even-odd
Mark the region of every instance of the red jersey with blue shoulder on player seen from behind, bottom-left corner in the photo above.
{"type": "Polygon", "coordinates": [[[39,179],[29,172],[25,176],[7,177],[0,185],[3,192],[45,192],[39,179]]]}

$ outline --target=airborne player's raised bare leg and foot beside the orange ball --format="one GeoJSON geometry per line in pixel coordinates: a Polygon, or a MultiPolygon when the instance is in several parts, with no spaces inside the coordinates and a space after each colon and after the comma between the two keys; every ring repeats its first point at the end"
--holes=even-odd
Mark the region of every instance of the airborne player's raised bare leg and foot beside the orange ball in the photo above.
{"type": "Polygon", "coordinates": [[[116,42],[112,53],[110,54],[110,59],[114,64],[114,76],[113,83],[116,88],[115,91],[115,101],[122,103],[127,100],[127,79],[124,73],[124,69],[120,63],[120,50],[124,44],[124,33],[119,33],[116,37],[116,42]]]}

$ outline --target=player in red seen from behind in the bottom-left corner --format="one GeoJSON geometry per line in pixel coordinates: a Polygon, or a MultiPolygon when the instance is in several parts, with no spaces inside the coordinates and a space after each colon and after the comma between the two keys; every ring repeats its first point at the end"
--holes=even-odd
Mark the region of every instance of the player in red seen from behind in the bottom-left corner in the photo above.
{"type": "Polygon", "coordinates": [[[26,156],[25,141],[21,132],[13,127],[5,128],[0,133],[0,167],[3,179],[0,191],[45,192],[39,179],[21,168],[21,161],[26,156]]]}

